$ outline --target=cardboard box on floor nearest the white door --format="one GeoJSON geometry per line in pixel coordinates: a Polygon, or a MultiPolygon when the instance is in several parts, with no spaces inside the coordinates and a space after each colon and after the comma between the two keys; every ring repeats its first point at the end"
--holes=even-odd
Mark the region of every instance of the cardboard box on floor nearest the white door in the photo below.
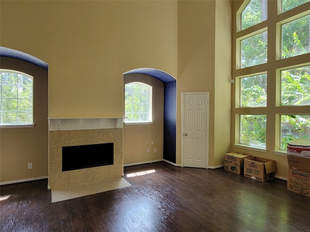
{"type": "Polygon", "coordinates": [[[236,174],[243,174],[243,159],[249,155],[239,153],[227,153],[224,156],[224,169],[236,174]]]}

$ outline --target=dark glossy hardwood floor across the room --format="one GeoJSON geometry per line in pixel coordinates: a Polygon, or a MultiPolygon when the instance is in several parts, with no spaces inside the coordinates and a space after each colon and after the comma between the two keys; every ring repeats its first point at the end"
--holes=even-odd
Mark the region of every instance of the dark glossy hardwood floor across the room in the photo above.
{"type": "Polygon", "coordinates": [[[283,180],[159,162],[124,172],[130,187],[58,203],[50,203],[47,180],[1,186],[10,197],[0,202],[0,231],[310,232],[310,198],[283,180]]]}

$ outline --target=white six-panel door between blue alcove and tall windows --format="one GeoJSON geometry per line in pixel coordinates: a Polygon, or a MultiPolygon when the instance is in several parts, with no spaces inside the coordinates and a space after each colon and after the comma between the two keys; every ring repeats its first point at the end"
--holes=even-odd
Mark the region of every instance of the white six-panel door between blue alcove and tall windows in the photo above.
{"type": "Polygon", "coordinates": [[[208,93],[182,93],[183,166],[207,168],[208,93]]]}

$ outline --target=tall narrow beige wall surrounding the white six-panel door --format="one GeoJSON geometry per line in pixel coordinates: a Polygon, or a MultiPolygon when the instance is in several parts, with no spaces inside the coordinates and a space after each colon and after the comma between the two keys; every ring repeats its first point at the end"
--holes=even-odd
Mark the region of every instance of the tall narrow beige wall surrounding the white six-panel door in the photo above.
{"type": "Polygon", "coordinates": [[[177,163],[181,163],[181,93],[209,92],[208,166],[230,145],[230,1],[178,2],[177,163]]]}

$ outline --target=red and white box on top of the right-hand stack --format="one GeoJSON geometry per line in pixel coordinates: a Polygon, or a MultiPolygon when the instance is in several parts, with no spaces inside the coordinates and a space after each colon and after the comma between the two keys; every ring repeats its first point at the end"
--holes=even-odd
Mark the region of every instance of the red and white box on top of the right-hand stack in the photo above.
{"type": "Polygon", "coordinates": [[[310,159],[310,139],[296,139],[288,143],[287,154],[310,159]]]}

